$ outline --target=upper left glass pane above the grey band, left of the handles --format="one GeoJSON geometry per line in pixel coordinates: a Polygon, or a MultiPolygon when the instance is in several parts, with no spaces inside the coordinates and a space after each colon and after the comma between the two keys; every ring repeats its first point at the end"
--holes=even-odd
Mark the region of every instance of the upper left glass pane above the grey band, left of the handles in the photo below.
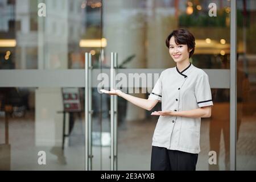
{"type": "Polygon", "coordinates": [[[0,3],[0,69],[82,69],[85,51],[98,61],[100,1],[0,3]]]}

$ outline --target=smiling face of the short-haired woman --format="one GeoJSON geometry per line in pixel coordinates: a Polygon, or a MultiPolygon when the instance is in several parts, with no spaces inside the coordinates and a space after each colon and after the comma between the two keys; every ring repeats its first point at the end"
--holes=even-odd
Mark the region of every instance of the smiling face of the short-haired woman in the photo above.
{"type": "Polygon", "coordinates": [[[169,53],[175,63],[189,61],[188,46],[186,44],[176,44],[174,36],[170,39],[169,53]]]}

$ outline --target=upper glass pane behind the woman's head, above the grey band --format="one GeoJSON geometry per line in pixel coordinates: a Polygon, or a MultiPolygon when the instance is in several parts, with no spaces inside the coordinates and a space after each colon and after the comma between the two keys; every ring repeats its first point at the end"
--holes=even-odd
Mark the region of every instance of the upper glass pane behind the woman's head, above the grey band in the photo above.
{"type": "Polygon", "coordinates": [[[203,69],[229,69],[229,65],[222,65],[222,60],[228,60],[230,53],[230,2],[214,1],[217,16],[209,16],[211,2],[104,2],[106,52],[117,51],[119,64],[132,57],[126,68],[174,67],[165,39],[171,30],[187,28],[196,38],[193,64],[203,69]]]}

